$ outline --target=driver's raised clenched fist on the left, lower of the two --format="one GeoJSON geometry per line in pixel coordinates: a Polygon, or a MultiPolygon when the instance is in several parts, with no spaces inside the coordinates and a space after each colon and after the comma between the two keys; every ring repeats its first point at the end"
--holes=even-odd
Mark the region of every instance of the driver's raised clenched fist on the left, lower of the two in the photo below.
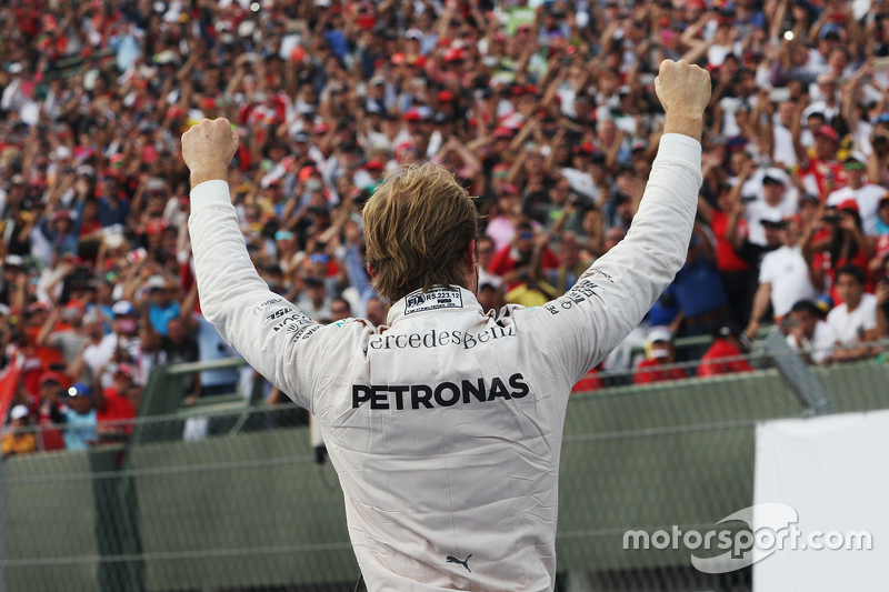
{"type": "Polygon", "coordinates": [[[238,150],[238,133],[227,119],[204,119],[182,134],[182,159],[191,171],[191,187],[213,179],[226,180],[238,150]]]}

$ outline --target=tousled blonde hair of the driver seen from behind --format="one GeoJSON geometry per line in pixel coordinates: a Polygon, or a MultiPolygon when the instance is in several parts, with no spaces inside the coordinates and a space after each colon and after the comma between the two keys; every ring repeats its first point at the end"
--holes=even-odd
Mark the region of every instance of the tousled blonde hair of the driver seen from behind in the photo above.
{"type": "Polygon", "coordinates": [[[392,301],[433,285],[463,285],[466,248],[478,237],[476,204],[441,167],[402,165],[364,205],[368,265],[392,301]]]}

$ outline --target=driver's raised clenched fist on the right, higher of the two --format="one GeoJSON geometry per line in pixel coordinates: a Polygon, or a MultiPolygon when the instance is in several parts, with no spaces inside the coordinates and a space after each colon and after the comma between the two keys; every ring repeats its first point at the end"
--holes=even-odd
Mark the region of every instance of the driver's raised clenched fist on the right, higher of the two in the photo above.
{"type": "Polygon", "coordinates": [[[665,133],[683,133],[700,140],[711,88],[707,70],[685,60],[663,60],[655,79],[655,91],[667,113],[665,133]]]}

